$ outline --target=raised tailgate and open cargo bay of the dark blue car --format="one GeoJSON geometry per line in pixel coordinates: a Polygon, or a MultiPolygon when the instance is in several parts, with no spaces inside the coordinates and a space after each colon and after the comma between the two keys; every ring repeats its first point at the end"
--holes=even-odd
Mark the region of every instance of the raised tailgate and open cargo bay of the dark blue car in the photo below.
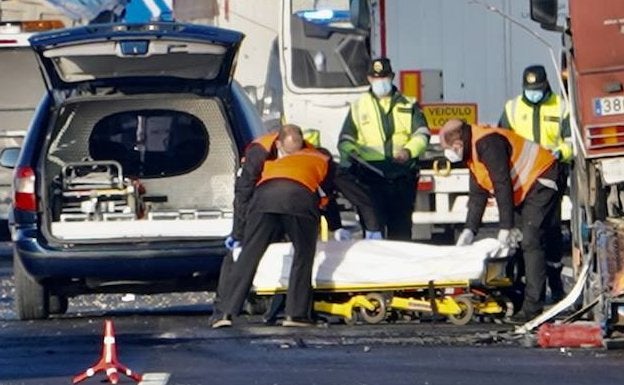
{"type": "Polygon", "coordinates": [[[229,233],[238,153],[214,90],[232,81],[242,38],[177,23],[87,26],[31,38],[48,89],[68,97],[44,154],[53,237],[229,233]],[[100,88],[134,92],[106,95],[100,88]]]}

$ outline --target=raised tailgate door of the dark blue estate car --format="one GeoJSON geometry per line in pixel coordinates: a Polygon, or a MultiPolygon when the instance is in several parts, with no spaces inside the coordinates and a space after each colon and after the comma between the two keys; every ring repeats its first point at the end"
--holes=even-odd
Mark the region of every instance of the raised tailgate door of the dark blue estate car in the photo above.
{"type": "Polygon", "coordinates": [[[243,34],[180,23],[102,24],[34,35],[50,90],[231,82],[243,34]]]}

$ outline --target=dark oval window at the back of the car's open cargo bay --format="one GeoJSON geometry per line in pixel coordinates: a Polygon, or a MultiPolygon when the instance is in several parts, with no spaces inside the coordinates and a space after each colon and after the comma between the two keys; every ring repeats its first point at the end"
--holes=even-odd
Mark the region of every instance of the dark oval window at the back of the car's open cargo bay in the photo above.
{"type": "Polygon", "coordinates": [[[89,137],[93,160],[116,160],[126,176],[158,178],[199,167],[210,147],[204,124],[173,110],[125,111],[100,119],[89,137]]]}

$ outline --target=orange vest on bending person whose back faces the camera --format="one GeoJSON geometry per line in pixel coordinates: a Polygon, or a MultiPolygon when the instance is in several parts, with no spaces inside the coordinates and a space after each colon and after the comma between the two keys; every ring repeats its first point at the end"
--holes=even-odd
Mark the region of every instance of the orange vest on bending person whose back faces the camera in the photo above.
{"type": "Polygon", "coordinates": [[[327,156],[309,148],[267,160],[256,185],[259,186],[272,179],[289,179],[301,183],[315,193],[327,176],[328,162],[327,156]]]}

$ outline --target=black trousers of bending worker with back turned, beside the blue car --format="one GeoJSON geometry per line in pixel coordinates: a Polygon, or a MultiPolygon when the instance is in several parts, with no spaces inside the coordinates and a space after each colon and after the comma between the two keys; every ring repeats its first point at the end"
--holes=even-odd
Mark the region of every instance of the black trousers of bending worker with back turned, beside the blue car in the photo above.
{"type": "Polygon", "coordinates": [[[262,255],[275,233],[284,231],[294,248],[286,296],[286,315],[310,319],[312,315],[312,266],[316,254],[319,221],[310,217],[250,211],[245,244],[220,288],[224,313],[238,315],[249,295],[262,255]]]}

